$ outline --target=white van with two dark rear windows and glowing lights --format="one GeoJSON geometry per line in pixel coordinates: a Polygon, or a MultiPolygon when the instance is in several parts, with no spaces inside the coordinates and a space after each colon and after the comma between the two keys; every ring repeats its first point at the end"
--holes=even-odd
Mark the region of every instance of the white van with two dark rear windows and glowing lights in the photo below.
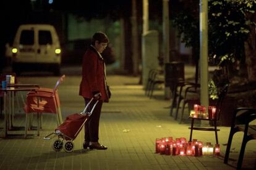
{"type": "Polygon", "coordinates": [[[53,71],[60,74],[61,46],[53,25],[20,25],[12,46],[12,71],[53,71]]]}

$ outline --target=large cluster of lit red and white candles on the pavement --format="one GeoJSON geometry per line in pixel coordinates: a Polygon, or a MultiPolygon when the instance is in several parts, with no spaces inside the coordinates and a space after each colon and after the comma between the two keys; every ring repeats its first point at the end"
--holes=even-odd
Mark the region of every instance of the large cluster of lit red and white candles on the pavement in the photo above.
{"type": "Polygon", "coordinates": [[[202,156],[202,155],[220,155],[220,145],[215,144],[215,147],[207,142],[203,145],[203,142],[193,139],[187,142],[185,137],[176,138],[163,137],[156,139],[155,153],[161,155],[180,155],[180,156],[202,156]]]}

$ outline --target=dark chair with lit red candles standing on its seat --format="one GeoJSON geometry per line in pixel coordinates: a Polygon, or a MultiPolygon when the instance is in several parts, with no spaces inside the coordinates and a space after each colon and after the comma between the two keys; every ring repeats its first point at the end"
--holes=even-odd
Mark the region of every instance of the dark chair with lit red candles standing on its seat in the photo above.
{"type": "Polygon", "coordinates": [[[218,101],[216,103],[216,113],[214,118],[194,118],[190,117],[191,119],[191,126],[189,127],[190,129],[190,137],[189,141],[192,141],[192,133],[194,130],[197,131],[214,131],[215,132],[215,139],[216,139],[216,144],[218,144],[218,134],[217,131],[220,131],[220,129],[217,129],[217,121],[220,119],[220,113],[221,113],[221,106],[224,100],[224,97],[226,96],[228,92],[228,84],[225,84],[224,87],[221,89],[220,94],[218,95],[218,101]],[[213,127],[194,127],[194,121],[195,120],[203,120],[203,121],[210,121],[213,124],[213,127]]]}

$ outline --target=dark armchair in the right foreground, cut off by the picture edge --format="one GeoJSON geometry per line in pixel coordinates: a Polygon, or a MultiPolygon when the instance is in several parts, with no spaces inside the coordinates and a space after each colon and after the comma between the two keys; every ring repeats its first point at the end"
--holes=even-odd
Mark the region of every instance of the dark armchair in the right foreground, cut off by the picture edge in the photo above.
{"type": "Polygon", "coordinates": [[[256,125],[250,124],[256,119],[255,108],[237,108],[234,111],[232,124],[229,132],[228,145],[224,157],[224,163],[228,163],[229,152],[232,144],[233,136],[236,132],[244,132],[242,139],[242,145],[237,161],[237,169],[242,169],[242,161],[244,159],[244,152],[247,142],[252,139],[256,139],[256,125]]]}

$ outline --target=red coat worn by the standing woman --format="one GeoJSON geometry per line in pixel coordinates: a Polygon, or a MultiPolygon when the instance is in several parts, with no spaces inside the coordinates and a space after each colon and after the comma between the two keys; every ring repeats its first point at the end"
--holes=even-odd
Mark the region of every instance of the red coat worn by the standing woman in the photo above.
{"type": "Polygon", "coordinates": [[[83,55],[82,81],[80,83],[79,95],[91,99],[94,92],[100,92],[100,100],[108,102],[104,69],[104,60],[98,55],[98,52],[90,46],[83,55]]]}

